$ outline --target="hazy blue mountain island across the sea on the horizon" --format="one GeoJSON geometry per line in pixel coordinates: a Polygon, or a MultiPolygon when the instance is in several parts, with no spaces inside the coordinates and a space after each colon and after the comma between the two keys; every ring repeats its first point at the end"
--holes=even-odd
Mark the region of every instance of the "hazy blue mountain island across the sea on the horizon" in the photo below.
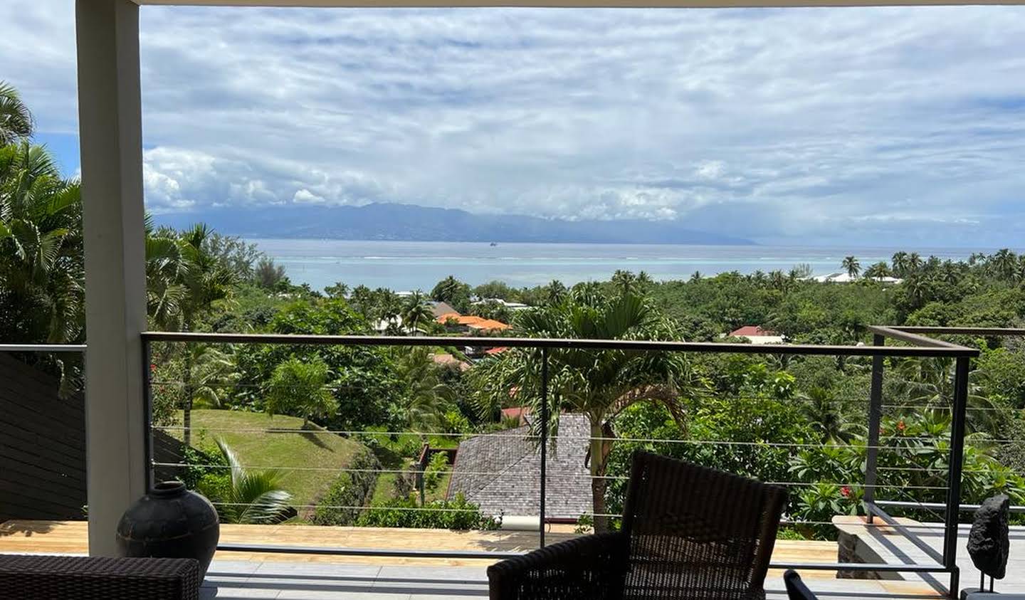
{"type": "Polygon", "coordinates": [[[247,238],[323,238],[438,242],[749,245],[751,241],[687,229],[673,221],[563,221],[522,214],[474,214],[414,204],[213,208],[155,215],[159,225],[206,223],[247,238]]]}

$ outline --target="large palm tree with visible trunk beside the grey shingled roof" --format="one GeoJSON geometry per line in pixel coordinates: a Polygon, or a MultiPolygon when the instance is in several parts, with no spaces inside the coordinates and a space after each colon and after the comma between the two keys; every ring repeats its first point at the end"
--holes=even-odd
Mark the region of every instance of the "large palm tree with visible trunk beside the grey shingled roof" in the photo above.
{"type": "MultiPolygon", "coordinates": [[[[592,339],[673,339],[664,321],[641,296],[607,298],[587,286],[575,288],[562,303],[524,311],[512,329],[525,337],[592,339]]],[[[680,386],[687,365],[679,353],[638,350],[548,350],[548,427],[558,435],[560,411],[582,413],[590,426],[588,468],[597,530],[608,528],[605,490],[608,456],[615,436],[614,419],[639,402],[666,406],[684,423],[680,386]]],[[[508,404],[541,408],[541,354],[535,349],[510,349],[474,369],[478,407],[491,415],[508,404]]],[[[534,429],[539,419],[532,419],[534,429]]],[[[559,443],[575,443],[563,440],[559,443]]]]}

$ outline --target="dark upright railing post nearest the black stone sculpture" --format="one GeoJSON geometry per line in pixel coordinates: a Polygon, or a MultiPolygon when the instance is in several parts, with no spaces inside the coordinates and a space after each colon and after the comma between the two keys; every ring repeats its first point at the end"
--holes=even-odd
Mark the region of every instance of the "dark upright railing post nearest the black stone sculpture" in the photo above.
{"type": "Polygon", "coordinates": [[[965,462],[965,413],[968,411],[968,373],[971,358],[957,357],[951,407],[950,461],[947,473],[947,514],[943,531],[943,566],[950,569],[950,597],[957,597],[957,523],[960,517],[961,465],[965,462]]]}

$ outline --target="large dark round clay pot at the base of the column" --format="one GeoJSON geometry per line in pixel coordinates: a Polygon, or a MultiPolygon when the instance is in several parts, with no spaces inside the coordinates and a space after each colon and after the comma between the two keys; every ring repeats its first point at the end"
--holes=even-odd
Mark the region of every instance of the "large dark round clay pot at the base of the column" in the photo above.
{"type": "Polygon", "coordinates": [[[125,511],[118,523],[121,556],[195,558],[206,575],[220,537],[210,501],[180,481],[158,483],[125,511]]]}

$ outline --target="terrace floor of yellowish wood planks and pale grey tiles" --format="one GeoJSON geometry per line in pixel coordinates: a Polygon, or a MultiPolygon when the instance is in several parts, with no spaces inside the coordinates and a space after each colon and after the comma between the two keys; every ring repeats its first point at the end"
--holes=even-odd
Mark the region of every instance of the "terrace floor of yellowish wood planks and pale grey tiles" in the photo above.
{"type": "MultiPolygon", "coordinates": [[[[548,543],[576,535],[569,526],[556,526],[554,529],[546,534],[548,543]]],[[[84,521],[7,521],[0,524],[0,554],[85,554],[87,533],[88,525],[84,521]]],[[[533,531],[221,525],[221,541],[275,546],[523,552],[536,547],[537,534],[533,531]]],[[[835,562],[836,544],[780,539],[776,542],[773,560],[835,562]]],[[[484,568],[492,562],[494,560],[491,559],[218,552],[201,597],[217,600],[256,597],[303,600],[486,597],[484,568]],[[440,590],[439,586],[451,589],[440,590]]],[[[778,570],[770,570],[766,579],[766,589],[770,591],[769,598],[772,600],[786,598],[781,575],[778,570]]],[[[803,576],[814,591],[837,599],[937,597],[934,590],[920,582],[837,579],[832,571],[812,570],[806,571],[803,576]]]]}

